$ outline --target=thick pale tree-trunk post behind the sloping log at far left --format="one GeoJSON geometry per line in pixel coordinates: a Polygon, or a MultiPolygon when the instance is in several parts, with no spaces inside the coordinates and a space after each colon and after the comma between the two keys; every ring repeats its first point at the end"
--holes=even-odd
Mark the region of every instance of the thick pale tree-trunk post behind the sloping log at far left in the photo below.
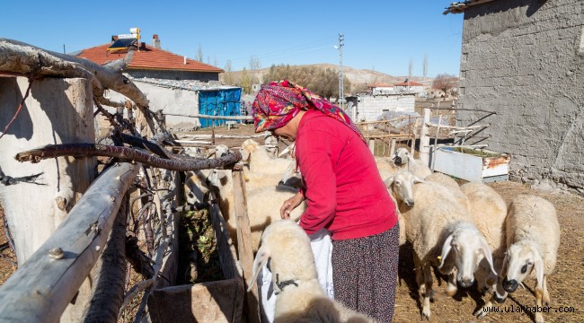
{"type": "MultiPolygon", "coordinates": [[[[2,131],[13,118],[28,85],[24,77],[0,77],[2,131]]],[[[10,224],[19,265],[66,220],[95,179],[96,159],[59,157],[22,163],[14,160],[14,155],[45,144],[94,142],[91,82],[82,78],[34,80],[23,109],[0,140],[0,165],[6,175],[21,177],[43,173],[38,182],[44,185],[0,185],[0,203],[10,224]]],[[[81,319],[84,302],[91,294],[91,280],[83,284],[75,304],[62,316],[64,321],[81,319]]]]}

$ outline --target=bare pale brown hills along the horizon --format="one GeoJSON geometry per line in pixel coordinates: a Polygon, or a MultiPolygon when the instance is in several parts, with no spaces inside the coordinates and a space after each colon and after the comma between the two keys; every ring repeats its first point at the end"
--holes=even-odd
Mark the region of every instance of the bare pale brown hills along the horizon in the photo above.
{"type": "MultiPolygon", "coordinates": [[[[300,66],[315,66],[317,68],[330,68],[334,71],[339,71],[339,65],[332,65],[332,64],[313,64],[313,65],[300,65],[300,66]]],[[[247,70],[248,74],[255,76],[260,83],[263,83],[263,75],[267,74],[270,71],[270,67],[262,68],[259,70],[251,71],[247,70]]],[[[350,83],[352,84],[352,88],[365,88],[365,85],[372,84],[372,83],[385,83],[385,84],[393,84],[393,83],[400,83],[403,82],[407,76],[394,76],[389,75],[369,69],[356,69],[350,66],[342,66],[342,72],[349,79],[350,83]]],[[[230,72],[233,76],[234,80],[241,79],[242,71],[232,71],[230,72]]],[[[220,74],[220,80],[223,81],[225,77],[225,73],[220,74]]],[[[432,82],[432,79],[427,77],[419,77],[419,76],[412,76],[411,81],[429,84],[432,82]]]]}

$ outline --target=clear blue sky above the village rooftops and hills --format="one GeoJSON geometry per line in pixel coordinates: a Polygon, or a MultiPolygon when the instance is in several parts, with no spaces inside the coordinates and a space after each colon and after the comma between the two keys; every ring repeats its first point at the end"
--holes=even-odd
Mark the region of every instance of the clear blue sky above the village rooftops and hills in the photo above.
{"type": "Polygon", "coordinates": [[[142,31],[150,44],[232,70],[289,64],[339,64],[394,76],[459,73],[462,14],[443,15],[450,0],[418,1],[9,1],[0,0],[0,38],[74,52],[107,43],[111,35],[142,31]]]}

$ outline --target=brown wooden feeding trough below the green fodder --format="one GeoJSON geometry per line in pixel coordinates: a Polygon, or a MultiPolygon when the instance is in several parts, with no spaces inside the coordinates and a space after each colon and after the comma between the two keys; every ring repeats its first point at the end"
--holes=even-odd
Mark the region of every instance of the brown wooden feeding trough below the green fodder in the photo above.
{"type": "Polygon", "coordinates": [[[153,322],[241,322],[243,271],[217,205],[210,208],[219,263],[226,279],[157,289],[148,299],[153,322]]]}

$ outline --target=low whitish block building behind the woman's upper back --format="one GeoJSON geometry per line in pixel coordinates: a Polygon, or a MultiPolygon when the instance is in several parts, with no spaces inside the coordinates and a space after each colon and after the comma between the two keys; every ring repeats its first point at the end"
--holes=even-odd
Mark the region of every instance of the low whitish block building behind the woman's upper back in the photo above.
{"type": "Polygon", "coordinates": [[[415,94],[358,94],[347,97],[347,113],[354,121],[374,121],[386,111],[414,112],[415,94]]]}

